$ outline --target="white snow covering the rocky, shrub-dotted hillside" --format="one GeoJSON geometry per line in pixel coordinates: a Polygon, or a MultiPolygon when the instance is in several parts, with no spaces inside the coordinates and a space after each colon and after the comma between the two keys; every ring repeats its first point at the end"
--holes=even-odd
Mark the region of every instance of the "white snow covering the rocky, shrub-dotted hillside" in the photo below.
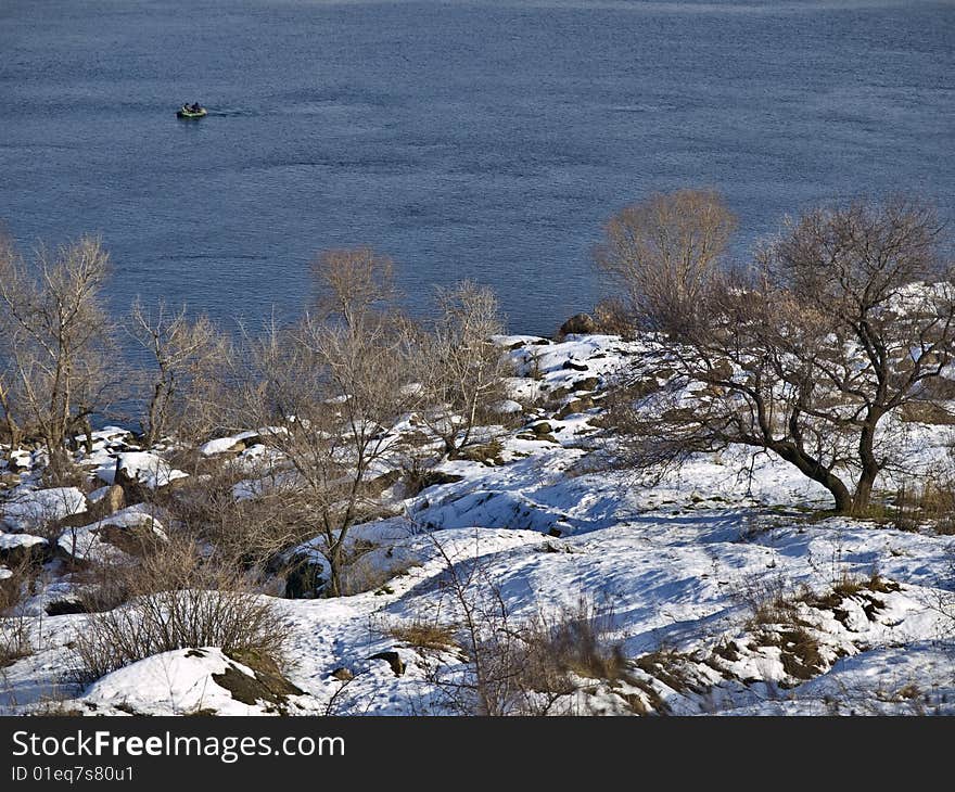
{"type": "MultiPolygon", "coordinates": [[[[35,651],[0,669],[2,705],[24,712],[54,699],[92,715],[454,713],[454,692],[473,677],[473,647],[461,637],[469,608],[497,614],[486,616],[493,629],[559,619],[584,602],[601,614],[602,640],[619,647],[625,667],[613,678],[580,675],[551,712],[955,715],[955,537],[826,515],[827,493],[766,455],[701,456],[659,483],[599,469],[601,391],[646,347],[614,336],[498,342],[518,365],[509,387],[523,425],[484,461],[442,464],[445,483],[396,500],[397,516],[353,529],[353,542],[372,548],[361,559],[370,590],[272,600],[288,624],[281,690],[214,647],[156,655],[77,688],[72,646],[89,616],[64,613],[29,617],[35,651]],[[446,626],[444,642],[416,641],[422,625],[446,626]]],[[[914,463],[938,462],[944,427],[916,429],[914,463]]],[[[245,448],[255,437],[202,451],[256,456],[260,447],[245,448]]],[[[94,469],[111,481],[122,451],[99,439],[94,469]]],[[[148,486],[178,474],[150,455],[123,458],[148,486]]],[[[36,491],[22,475],[16,498],[0,506],[0,552],[29,534],[35,512],[86,508],[81,494],[36,491]]],[[[133,508],[118,519],[143,516],[133,508]]],[[[73,531],[91,540],[98,524],[73,531]]],[[[63,586],[50,563],[50,590],[31,595],[38,601],[63,586]]]]}

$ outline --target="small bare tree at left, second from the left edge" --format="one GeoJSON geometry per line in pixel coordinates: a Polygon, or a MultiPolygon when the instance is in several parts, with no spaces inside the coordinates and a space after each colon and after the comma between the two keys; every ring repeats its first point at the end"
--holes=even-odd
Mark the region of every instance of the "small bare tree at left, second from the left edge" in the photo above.
{"type": "Polygon", "coordinates": [[[170,310],[163,302],[151,311],[137,299],[128,332],[151,361],[142,421],[149,447],[180,429],[187,413],[202,412],[202,391],[213,379],[211,369],[224,368],[228,344],[207,317],[190,319],[184,306],[170,310]]]}

